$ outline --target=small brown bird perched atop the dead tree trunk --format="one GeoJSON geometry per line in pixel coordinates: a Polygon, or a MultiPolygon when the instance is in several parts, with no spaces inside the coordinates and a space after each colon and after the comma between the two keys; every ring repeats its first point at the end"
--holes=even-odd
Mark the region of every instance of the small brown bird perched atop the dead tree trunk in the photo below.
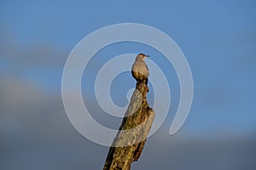
{"type": "Polygon", "coordinates": [[[144,82],[148,84],[148,66],[144,59],[148,58],[148,55],[137,54],[134,64],[131,67],[131,75],[134,77],[137,82],[144,82]]]}

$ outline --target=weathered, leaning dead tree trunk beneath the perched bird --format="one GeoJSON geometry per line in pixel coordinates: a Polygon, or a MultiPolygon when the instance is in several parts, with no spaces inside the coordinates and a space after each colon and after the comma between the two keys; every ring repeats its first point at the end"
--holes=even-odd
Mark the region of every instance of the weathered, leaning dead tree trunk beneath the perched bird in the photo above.
{"type": "Polygon", "coordinates": [[[148,107],[147,93],[148,86],[137,82],[119,133],[108,151],[103,170],[129,170],[131,162],[137,161],[141,155],[154,120],[154,111],[148,107]]]}

